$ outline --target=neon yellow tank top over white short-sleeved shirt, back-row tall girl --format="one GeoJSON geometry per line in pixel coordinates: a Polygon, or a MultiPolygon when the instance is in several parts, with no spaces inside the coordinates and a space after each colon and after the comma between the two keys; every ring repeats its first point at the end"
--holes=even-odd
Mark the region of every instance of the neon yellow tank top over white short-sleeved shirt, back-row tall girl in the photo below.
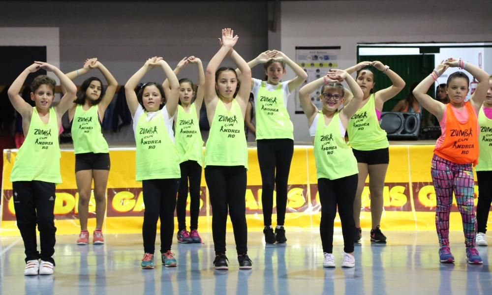
{"type": "Polygon", "coordinates": [[[294,125],[283,104],[282,84],[269,91],[262,81],[256,99],[256,139],[289,138],[294,140],[294,125]]]}

